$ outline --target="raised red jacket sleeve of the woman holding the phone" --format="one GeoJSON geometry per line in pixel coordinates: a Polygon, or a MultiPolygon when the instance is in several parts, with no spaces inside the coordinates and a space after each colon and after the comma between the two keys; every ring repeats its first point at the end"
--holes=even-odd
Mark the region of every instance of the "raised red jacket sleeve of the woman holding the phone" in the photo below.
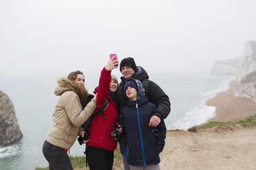
{"type": "Polygon", "coordinates": [[[106,103],[109,97],[110,81],[111,81],[111,71],[107,71],[104,67],[100,73],[100,81],[98,82],[96,110],[101,108],[106,103]]]}

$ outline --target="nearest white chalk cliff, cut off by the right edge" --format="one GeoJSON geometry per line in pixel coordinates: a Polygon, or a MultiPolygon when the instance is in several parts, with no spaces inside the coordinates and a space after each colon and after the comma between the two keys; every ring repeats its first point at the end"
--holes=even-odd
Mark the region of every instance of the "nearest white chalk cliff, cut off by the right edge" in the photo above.
{"type": "Polygon", "coordinates": [[[256,101],[256,41],[248,41],[245,44],[237,80],[239,84],[235,89],[235,96],[248,97],[256,101]]]}

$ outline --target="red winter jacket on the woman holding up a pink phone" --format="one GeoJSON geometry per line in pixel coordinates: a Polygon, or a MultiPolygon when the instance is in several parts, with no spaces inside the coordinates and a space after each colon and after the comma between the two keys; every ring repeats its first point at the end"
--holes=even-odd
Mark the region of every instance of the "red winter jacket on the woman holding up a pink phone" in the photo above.
{"type": "Polygon", "coordinates": [[[94,110],[93,114],[98,112],[98,110],[105,104],[107,99],[109,99],[109,105],[104,110],[105,119],[103,119],[103,114],[101,113],[93,119],[89,127],[89,142],[87,145],[90,147],[99,147],[114,151],[117,143],[110,135],[110,132],[113,130],[114,123],[118,121],[118,107],[109,97],[110,81],[111,71],[107,71],[104,67],[100,73],[100,82],[98,84],[98,89],[96,90],[97,108],[94,110]]]}

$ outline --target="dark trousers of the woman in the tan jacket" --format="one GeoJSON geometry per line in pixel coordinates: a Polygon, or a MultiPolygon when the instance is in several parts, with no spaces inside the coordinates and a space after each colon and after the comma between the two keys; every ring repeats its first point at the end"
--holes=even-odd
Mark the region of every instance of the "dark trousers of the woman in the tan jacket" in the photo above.
{"type": "Polygon", "coordinates": [[[49,162],[49,170],[73,170],[67,152],[45,140],[43,143],[43,156],[49,162]]]}

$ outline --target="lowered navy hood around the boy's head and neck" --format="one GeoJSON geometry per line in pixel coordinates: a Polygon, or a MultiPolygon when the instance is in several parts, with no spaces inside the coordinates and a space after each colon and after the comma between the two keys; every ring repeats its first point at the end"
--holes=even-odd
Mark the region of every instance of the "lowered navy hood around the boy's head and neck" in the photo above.
{"type": "MultiPolygon", "coordinates": [[[[133,80],[134,82],[136,82],[137,86],[138,86],[138,99],[137,99],[137,103],[140,105],[140,104],[143,104],[147,101],[149,101],[149,99],[147,99],[146,95],[145,95],[145,89],[142,85],[142,83],[140,82],[140,80],[136,80],[136,79],[129,79],[129,80],[133,80]]],[[[129,99],[127,105],[134,105],[136,104],[136,101],[131,101],[129,99]]]]}

